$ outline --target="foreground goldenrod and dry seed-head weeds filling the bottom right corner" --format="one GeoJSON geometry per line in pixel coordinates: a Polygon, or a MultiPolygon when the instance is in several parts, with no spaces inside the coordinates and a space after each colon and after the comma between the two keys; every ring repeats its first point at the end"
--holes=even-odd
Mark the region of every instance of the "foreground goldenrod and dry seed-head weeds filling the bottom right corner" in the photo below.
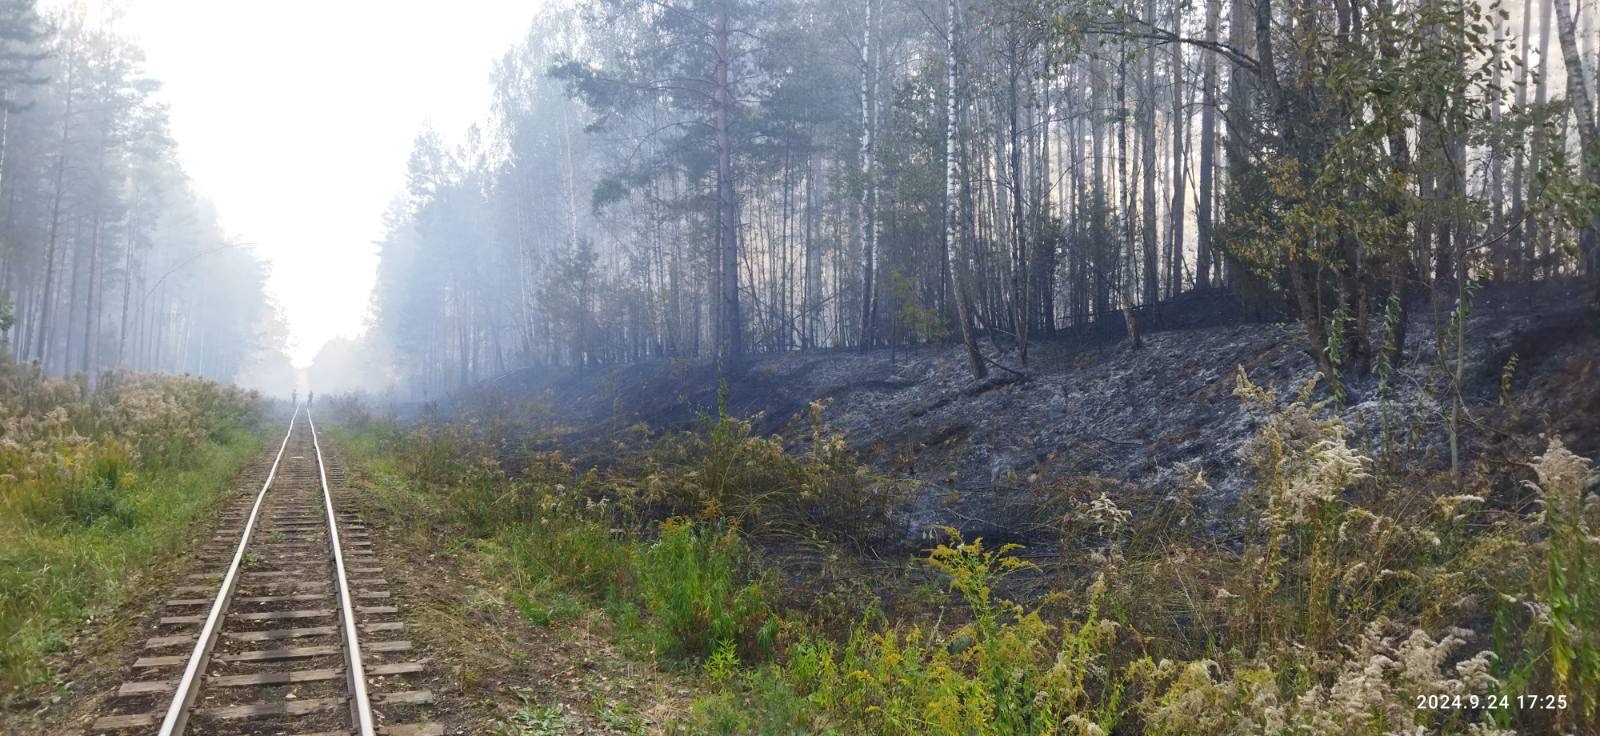
{"type": "Polygon", "coordinates": [[[941,626],[942,613],[915,622],[869,613],[842,640],[798,635],[778,664],[704,698],[694,723],[709,733],[1218,736],[1493,734],[1512,718],[1526,733],[1592,726],[1578,694],[1594,690],[1589,530],[1600,501],[1582,496],[1587,467],[1557,448],[1539,461],[1550,542],[1531,546],[1539,531],[1482,496],[1381,474],[1328,403],[1310,402],[1314,387],[1280,402],[1240,379],[1238,395],[1264,413],[1242,451],[1256,480],[1242,549],[1186,538],[1181,507],[1141,517],[1101,493],[1066,514],[1075,536],[1064,546],[1090,547],[1094,584],[1058,586],[1030,608],[995,592],[1011,576],[1040,574],[1016,547],[952,536],[928,563],[963,603],[957,624],[941,626]],[[1490,650],[1459,622],[1504,595],[1526,600],[1506,608],[1509,638],[1490,650]],[[1541,691],[1566,693],[1573,706],[1416,707],[1426,696],[1541,691]]]}

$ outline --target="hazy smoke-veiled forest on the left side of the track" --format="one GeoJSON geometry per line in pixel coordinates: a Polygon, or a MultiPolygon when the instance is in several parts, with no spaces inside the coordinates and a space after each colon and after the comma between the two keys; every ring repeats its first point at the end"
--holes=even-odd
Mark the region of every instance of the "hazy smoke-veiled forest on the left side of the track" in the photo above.
{"type": "Polygon", "coordinates": [[[184,174],[158,88],[82,8],[0,3],[0,334],[40,373],[232,381],[282,342],[266,266],[184,174]]]}

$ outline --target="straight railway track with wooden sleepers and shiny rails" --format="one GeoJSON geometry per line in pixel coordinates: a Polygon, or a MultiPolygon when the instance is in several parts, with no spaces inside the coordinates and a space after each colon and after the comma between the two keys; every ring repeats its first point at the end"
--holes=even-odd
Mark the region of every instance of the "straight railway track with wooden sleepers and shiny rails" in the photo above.
{"type": "Polygon", "coordinates": [[[261,490],[222,512],[208,568],[163,602],[155,635],[91,733],[437,736],[434,696],[360,520],[334,509],[317,427],[296,406],[261,490]],[[210,597],[208,597],[210,595],[210,597]]]}

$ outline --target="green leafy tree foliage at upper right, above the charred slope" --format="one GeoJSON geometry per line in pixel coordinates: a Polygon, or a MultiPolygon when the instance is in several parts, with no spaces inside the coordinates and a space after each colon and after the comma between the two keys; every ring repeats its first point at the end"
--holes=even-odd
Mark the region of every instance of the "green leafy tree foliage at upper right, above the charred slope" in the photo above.
{"type": "Polygon", "coordinates": [[[1243,131],[1251,162],[1229,187],[1221,248],[1294,299],[1342,402],[1339,373],[1370,368],[1368,310],[1387,298],[1395,274],[1426,270],[1437,258],[1443,286],[1483,264],[1483,251],[1466,242],[1501,227],[1491,216],[1501,203],[1488,187],[1469,194],[1462,182],[1472,171],[1454,155],[1501,125],[1480,114],[1506,96],[1491,37],[1498,21],[1472,3],[1392,5],[1370,8],[1363,32],[1350,34],[1326,5],[1278,10],[1274,64],[1259,80],[1262,123],[1243,131]],[[1435,224],[1445,230],[1432,253],[1435,224]]]}

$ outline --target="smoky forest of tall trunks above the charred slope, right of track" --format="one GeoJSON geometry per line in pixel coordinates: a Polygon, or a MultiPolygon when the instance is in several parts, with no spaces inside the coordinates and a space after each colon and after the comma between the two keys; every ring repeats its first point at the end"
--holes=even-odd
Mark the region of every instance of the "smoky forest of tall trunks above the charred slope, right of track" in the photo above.
{"type": "Polygon", "coordinates": [[[1222,293],[1365,376],[1405,360],[1408,312],[1597,278],[1579,5],[552,6],[480,125],[418,134],[374,349],[325,373],[437,397],[958,339],[981,378],[1222,293]]]}

